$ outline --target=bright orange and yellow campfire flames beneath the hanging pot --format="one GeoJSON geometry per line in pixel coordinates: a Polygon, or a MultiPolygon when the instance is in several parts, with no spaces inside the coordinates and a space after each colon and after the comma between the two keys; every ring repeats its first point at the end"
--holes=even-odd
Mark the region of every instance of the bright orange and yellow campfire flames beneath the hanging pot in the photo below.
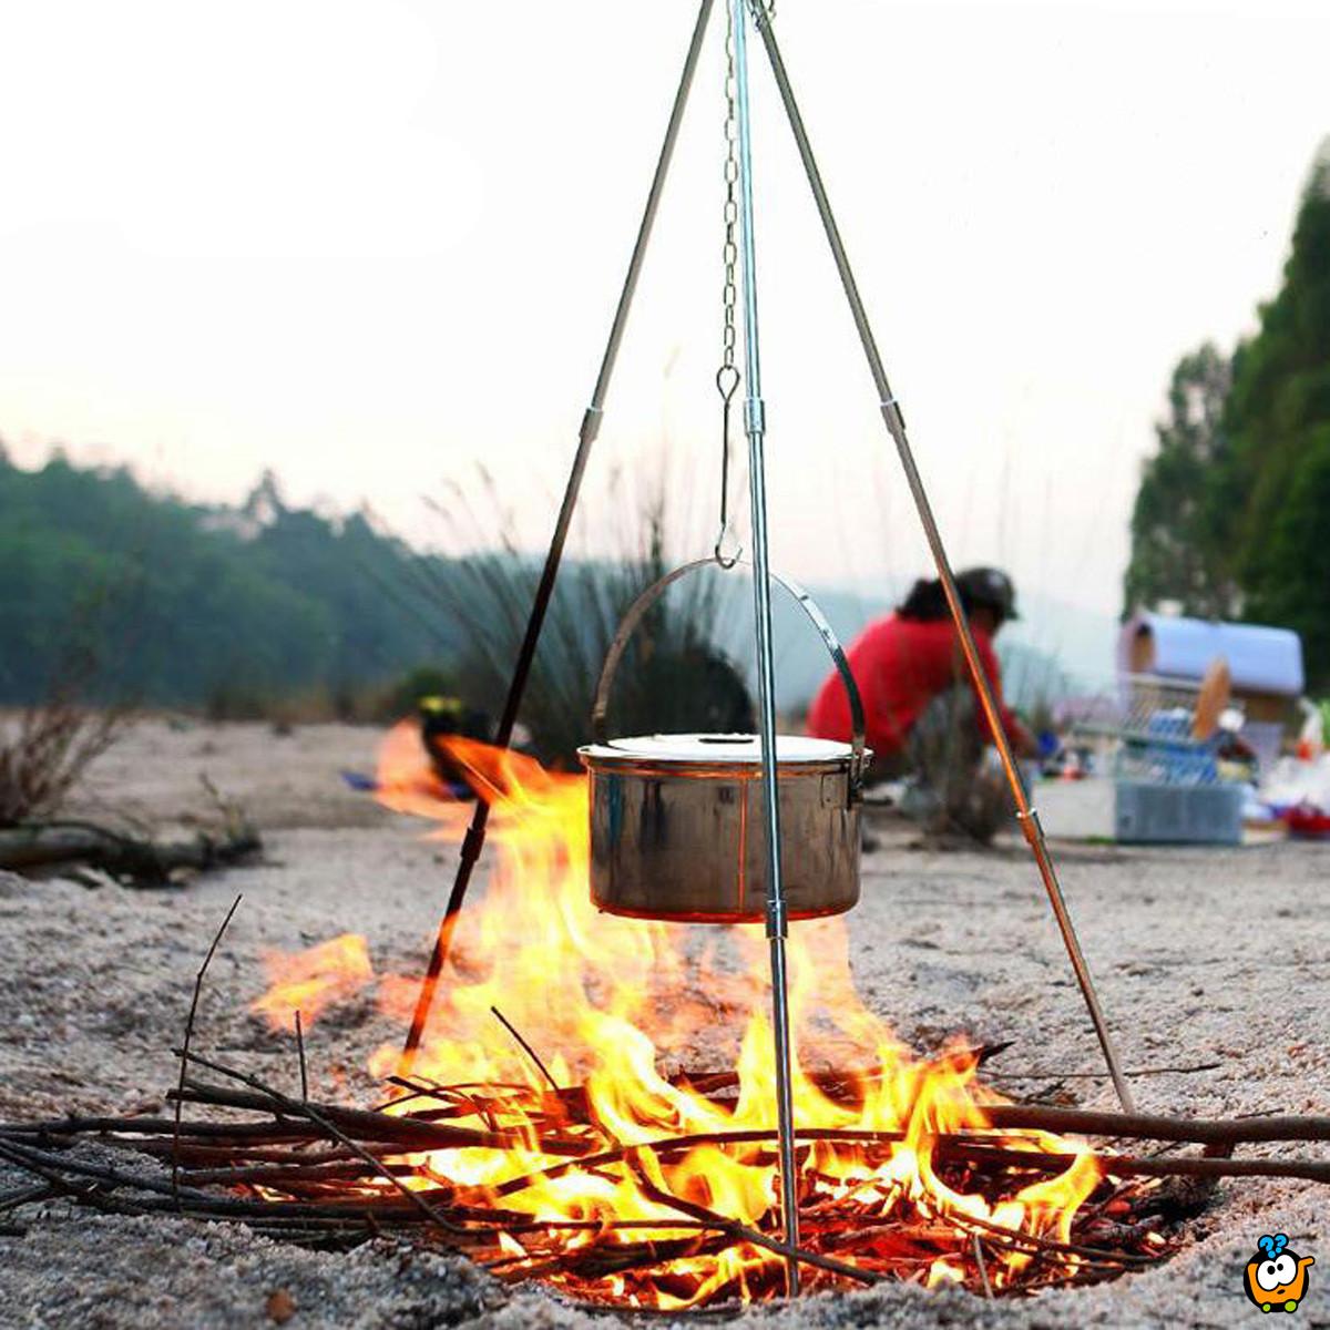
{"type": "MultiPolygon", "coordinates": [[[[390,1111],[446,1109],[459,1125],[500,1129],[515,1144],[412,1154],[419,1185],[561,1225],[563,1253],[628,1252],[644,1234],[677,1244],[678,1254],[654,1265],[650,1281],[630,1267],[602,1273],[588,1265],[585,1274],[571,1274],[567,1265],[556,1273],[545,1266],[544,1277],[584,1298],[674,1310],[717,1294],[747,1299],[759,1295],[755,1290],[779,1289],[778,1254],[750,1242],[708,1250],[706,1230],[686,1218],[701,1208],[766,1232],[778,1221],[761,926],[688,927],[598,914],[588,892],[585,777],[548,771],[466,738],[444,742],[450,761],[489,805],[495,853],[488,880],[473,887],[414,1064],[422,1092],[390,1111]],[[690,1083],[685,1065],[733,1072],[690,1083]],[[583,1091],[559,1092],[551,1081],[583,1091]],[[473,1087],[475,1099],[440,1087],[473,1087]],[[551,1133],[596,1142],[612,1160],[597,1166],[553,1154],[551,1133]]],[[[411,722],[384,741],[379,798],[434,819],[432,834],[446,839],[460,838],[472,811],[434,774],[411,722]]],[[[350,971],[367,975],[363,942],[356,947],[340,938],[330,947],[363,958],[363,968],[352,962],[350,971]]],[[[255,1005],[279,1020],[298,1005],[309,1019],[315,1005],[346,992],[334,978],[346,971],[326,966],[327,954],[314,959],[325,948],[306,952],[305,967],[283,960],[274,988],[255,1005]]],[[[919,1059],[859,1000],[842,920],[797,924],[789,959],[806,1229],[815,1232],[837,1208],[849,1208],[870,1232],[899,1221],[898,1241],[876,1240],[872,1267],[928,1286],[966,1278],[954,1257],[919,1238],[930,1225],[967,1242],[1000,1230],[1068,1241],[1077,1209],[1100,1181],[1088,1146],[1044,1132],[994,1132],[984,1108],[1005,1100],[976,1080],[972,1049],[958,1041],[919,1059]],[[846,1075],[846,1067],[858,1071],[846,1075]],[[834,1068],[842,1072],[833,1076],[834,1068]],[[963,1158],[947,1153],[947,1137],[956,1132],[1071,1162],[1037,1182],[1013,1182],[1011,1194],[982,1194],[967,1189],[963,1158]]],[[[406,1020],[415,995],[415,983],[387,976],[378,1000],[387,1015],[406,1020]]],[[[392,1075],[399,1056],[399,1043],[384,1045],[371,1057],[371,1071],[392,1075]]],[[[504,1234],[499,1253],[513,1269],[540,1267],[551,1241],[531,1240],[527,1230],[504,1234]]],[[[1008,1242],[994,1253],[987,1273],[995,1287],[1021,1273],[1029,1248],[1008,1242]]],[[[837,1252],[835,1240],[825,1249],[837,1252]]],[[[1061,1260],[1076,1262],[1071,1254],[1061,1260]]]]}

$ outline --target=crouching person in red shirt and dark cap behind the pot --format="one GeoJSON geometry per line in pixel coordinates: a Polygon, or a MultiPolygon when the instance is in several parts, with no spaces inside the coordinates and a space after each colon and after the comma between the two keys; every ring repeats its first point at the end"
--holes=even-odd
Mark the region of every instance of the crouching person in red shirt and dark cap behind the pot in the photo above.
{"type": "MultiPolygon", "coordinates": [[[[996,568],[967,568],[956,589],[975,634],[979,660],[992,685],[1003,729],[1020,757],[1037,743],[1004,705],[1001,670],[992,641],[1001,625],[1019,617],[1011,579],[996,568]]],[[[855,638],[846,653],[863,698],[868,747],[878,775],[899,775],[927,765],[924,747],[935,732],[962,726],[966,766],[972,767],[992,741],[978,704],[940,581],[922,579],[896,606],[855,638]]],[[[809,709],[809,734],[850,739],[850,701],[841,676],[831,673],[809,709]]],[[[935,746],[935,745],[934,745],[935,746]]]]}

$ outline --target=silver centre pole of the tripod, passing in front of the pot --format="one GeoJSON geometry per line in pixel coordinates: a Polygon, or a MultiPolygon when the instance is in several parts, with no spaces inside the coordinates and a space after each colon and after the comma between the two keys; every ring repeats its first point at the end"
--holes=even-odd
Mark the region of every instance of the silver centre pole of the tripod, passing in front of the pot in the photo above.
{"type": "MultiPolygon", "coordinates": [[[[757,258],[753,243],[753,137],[747,96],[747,0],[730,0],[734,31],[734,88],[739,141],[739,217],[743,270],[743,346],[747,400],[743,427],[749,442],[749,492],[753,508],[753,620],[757,630],[757,692],[762,739],[762,805],[766,823],[766,936],[771,951],[771,1024],[775,1032],[777,1125],[781,1137],[781,1209],[785,1241],[799,1244],[799,1180],[794,1170],[794,1100],[790,1089],[790,1000],[785,968],[789,912],[781,878],[781,801],[775,774],[775,664],[771,653],[771,580],[766,535],[766,460],[762,364],[757,334],[757,258]]],[[[786,1258],[786,1291],[799,1291],[799,1266],[786,1258]]]]}

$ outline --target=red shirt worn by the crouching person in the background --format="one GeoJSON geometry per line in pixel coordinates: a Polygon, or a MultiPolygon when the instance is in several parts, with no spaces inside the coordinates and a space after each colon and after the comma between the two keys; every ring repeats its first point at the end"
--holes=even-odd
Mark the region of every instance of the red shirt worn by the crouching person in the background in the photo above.
{"type": "MultiPolygon", "coordinates": [[[[976,629],[975,645],[1001,709],[1003,729],[1011,735],[1016,718],[1003,705],[1001,672],[992,640],[976,629]]],[[[888,614],[868,624],[846,656],[863,698],[868,747],[879,757],[899,753],[904,747],[914,722],[939,693],[960,680],[970,682],[960,637],[950,618],[920,622],[888,614]]],[[[984,735],[991,738],[982,709],[979,725],[984,735]]],[[[809,708],[807,730],[821,739],[839,739],[843,743],[850,739],[850,700],[841,676],[834,670],[809,708]]]]}

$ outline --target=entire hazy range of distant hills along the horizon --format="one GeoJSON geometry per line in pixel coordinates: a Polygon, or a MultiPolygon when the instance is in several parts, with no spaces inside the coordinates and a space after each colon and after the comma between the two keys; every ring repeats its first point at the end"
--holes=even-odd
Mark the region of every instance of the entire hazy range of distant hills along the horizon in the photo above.
{"type": "MultiPolygon", "coordinates": [[[[40,697],[84,649],[96,650],[104,696],[225,716],[314,690],[335,702],[427,662],[475,680],[483,648],[489,682],[476,701],[493,709],[539,563],[501,548],[469,560],[420,555],[364,512],[289,505],[271,475],[239,507],[198,505],[149,491],[126,469],[56,455],[27,471],[0,452],[0,704],[40,697]]],[[[565,698],[555,705],[577,713],[569,725],[589,710],[622,609],[658,571],[652,561],[568,561],[537,678],[565,698]]],[[[811,591],[849,642],[902,588],[811,591]]],[[[670,593],[677,612],[697,617],[751,681],[747,579],[726,579],[714,596],[685,595],[670,593]]],[[[1023,606],[1025,621],[1000,638],[1017,705],[1107,677],[1107,616],[1031,598],[1023,606]]],[[[778,595],[774,613],[778,705],[797,714],[830,661],[793,601],[778,595]]],[[[632,668],[625,661],[625,676],[632,668]]]]}

